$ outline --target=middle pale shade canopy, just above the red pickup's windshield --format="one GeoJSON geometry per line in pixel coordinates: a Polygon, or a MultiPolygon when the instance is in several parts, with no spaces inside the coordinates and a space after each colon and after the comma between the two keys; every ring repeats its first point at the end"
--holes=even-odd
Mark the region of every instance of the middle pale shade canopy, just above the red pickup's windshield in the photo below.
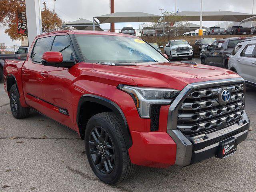
{"type": "MultiPolygon", "coordinates": [[[[162,16],[154,15],[143,12],[116,12],[101,16],[96,16],[93,18],[93,23],[95,23],[95,18],[97,18],[102,23],[122,23],[122,22],[158,22],[162,16]]],[[[95,27],[94,27],[95,29],[95,27]]]]}

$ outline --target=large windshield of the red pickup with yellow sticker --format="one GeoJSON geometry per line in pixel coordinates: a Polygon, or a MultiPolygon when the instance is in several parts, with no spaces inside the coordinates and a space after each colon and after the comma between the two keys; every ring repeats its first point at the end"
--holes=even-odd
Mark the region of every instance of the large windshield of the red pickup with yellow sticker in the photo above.
{"type": "Polygon", "coordinates": [[[86,62],[169,62],[139,38],[87,34],[76,34],[75,37],[86,62]]]}

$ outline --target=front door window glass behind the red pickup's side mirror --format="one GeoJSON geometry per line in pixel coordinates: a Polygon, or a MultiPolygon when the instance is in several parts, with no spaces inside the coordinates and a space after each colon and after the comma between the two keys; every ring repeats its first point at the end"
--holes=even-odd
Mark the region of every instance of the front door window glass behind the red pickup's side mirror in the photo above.
{"type": "Polygon", "coordinates": [[[74,60],[72,49],[70,47],[70,41],[64,35],[55,36],[51,51],[60,52],[64,61],[74,60]]]}

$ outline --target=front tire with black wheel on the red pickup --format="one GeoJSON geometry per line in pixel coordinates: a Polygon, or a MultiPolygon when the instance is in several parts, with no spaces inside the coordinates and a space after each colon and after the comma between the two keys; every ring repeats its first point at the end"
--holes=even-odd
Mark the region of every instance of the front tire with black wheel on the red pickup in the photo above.
{"type": "Polygon", "coordinates": [[[96,176],[107,184],[114,185],[126,180],[135,169],[121,129],[120,120],[112,112],[96,114],[86,125],[88,161],[96,176]]]}

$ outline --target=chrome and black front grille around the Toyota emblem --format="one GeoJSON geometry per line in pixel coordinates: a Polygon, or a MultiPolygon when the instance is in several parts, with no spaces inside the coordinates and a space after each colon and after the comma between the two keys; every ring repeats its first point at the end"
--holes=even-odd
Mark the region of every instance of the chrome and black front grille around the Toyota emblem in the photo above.
{"type": "Polygon", "coordinates": [[[185,135],[194,136],[235,124],[244,113],[244,101],[242,83],[192,90],[178,110],[177,128],[185,135]],[[218,93],[224,89],[230,90],[231,98],[223,104],[218,93]]]}

